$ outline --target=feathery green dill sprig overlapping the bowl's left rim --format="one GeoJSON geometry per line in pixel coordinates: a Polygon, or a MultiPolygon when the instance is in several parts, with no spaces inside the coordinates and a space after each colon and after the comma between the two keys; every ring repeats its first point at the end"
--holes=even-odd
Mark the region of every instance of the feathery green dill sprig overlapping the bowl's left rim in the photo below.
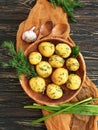
{"type": "Polygon", "coordinates": [[[7,48],[12,57],[8,63],[2,63],[3,67],[15,68],[19,78],[21,74],[25,74],[28,78],[37,76],[34,66],[30,66],[28,58],[24,55],[22,47],[20,47],[19,51],[16,52],[14,43],[6,41],[2,44],[2,47],[7,48]]]}

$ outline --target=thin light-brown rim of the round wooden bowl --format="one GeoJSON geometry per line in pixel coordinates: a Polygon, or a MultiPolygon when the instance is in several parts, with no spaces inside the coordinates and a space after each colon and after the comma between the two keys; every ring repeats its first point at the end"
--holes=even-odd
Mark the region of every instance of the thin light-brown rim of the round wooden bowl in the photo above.
{"type": "MultiPolygon", "coordinates": [[[[29,47],[26,48],[24,54],[27,56],[27,53],[28,53],[29,49],[30,49],[32,46],[34,46],[35,44],[39,44],[39,43],[41,43],[41,42],[51,41],[51,40],[56,40],[56,41],[60,41],[60,42],[63,42],[63,43],[67,43],[71,48],[75,46],[74,44],[72,44],[71,42],[69,42],[69,41],[67,41],[67,40],[65,40],[65,39],[61,39],[61,38],[44,38],[44,39],[41,39],[41,40],[37,40],[36,42],[34,42],[34,43],[32,43],[31,45],[29,45],[29,47]]],[[[23,90],[25,91],[25,93],[26,93],[31,99],[33,99],[35,102],[37,102],[37,103],[39,103],[39,104],[43,104],[43,105],[59,105],[59,104],[63,104],[63,103],[66,103],[66,102],[71,101],[71,100],[80,92],[80,90],[82,89],[82,85],[83,85],[83,83],[84,83],[84,81],[85,81],[85,78],[86,78],[86,65],[85,65],[84,58],[83,58],[83,56],[82,56],[82,54],[81,54],[80,52],[79,52],[79,57],[81,58],[81,61],[82,61],[82,65],[83,65],[82,68],[83,68],[84,74],[83,74],[82,82],[81,82],[81,85],[80,85],[79,89],[77,89],[76,92],[75,92],[69,99],[67,99],[67,100],[65,100],[65,101],[60,101],[59,103],[58,103],[58,102],[55,102],[55,100],[54,100],[54,103],[52,103],[52,102],[49,103],[49,102],[47,102],[47,101],[43,101],[43,100],[36,99],[36,96],[33,97],[33,95],[31,94],[31,92],[28,91],[28,89],[27,89],[28,87],[27,87],[27,86],[24,84],[24,82],[23,82],[23,80],[25,80],[25,78],[26,78],[24,74],[22,74],[22,75],[21,75],[21,78],[20,78],[20,84],[21,84],[23,90]]],[[[74,90],[71,90],[71,91],[74,91],[74,90]]],[[[51,100],[53,100],[53,99],[51,99],[51,100]]]]}

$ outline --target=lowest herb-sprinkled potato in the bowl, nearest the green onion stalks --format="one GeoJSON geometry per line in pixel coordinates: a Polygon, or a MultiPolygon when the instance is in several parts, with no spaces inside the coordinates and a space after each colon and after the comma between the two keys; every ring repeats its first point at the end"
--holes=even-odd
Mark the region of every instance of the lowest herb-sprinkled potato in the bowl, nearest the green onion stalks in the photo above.
{"type": "Polygon", "coordinates": [[[61,87],[53,83],[48,84],[46,93],[47,96],[51,99],[58,99],[63,95],[61,87]]]}

